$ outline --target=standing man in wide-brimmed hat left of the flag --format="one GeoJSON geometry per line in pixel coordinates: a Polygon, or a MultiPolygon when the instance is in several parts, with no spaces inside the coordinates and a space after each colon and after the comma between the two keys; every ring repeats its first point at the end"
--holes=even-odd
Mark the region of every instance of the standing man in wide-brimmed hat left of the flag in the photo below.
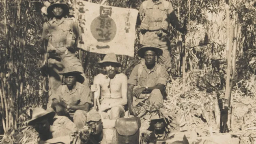
{"type": "MultiPolygon", "coordinates": [[[[69,7],[64,0],[49,0],[51,5],[47,8],[50,20],[43,24],[43,44],[47,47],[49,96],[55,94],[61,85],[62,77],[58,74],[65,67],[73,66],[83,73],[84,81],[80,82],[88,86],[84,75],[84,69],[79,59],[76,58],[77,38],[79,30],[72,18],[65,18],[69,14],[69,7]]],[[[51,105],[49,101],[48,105],[51,105]]]]}

